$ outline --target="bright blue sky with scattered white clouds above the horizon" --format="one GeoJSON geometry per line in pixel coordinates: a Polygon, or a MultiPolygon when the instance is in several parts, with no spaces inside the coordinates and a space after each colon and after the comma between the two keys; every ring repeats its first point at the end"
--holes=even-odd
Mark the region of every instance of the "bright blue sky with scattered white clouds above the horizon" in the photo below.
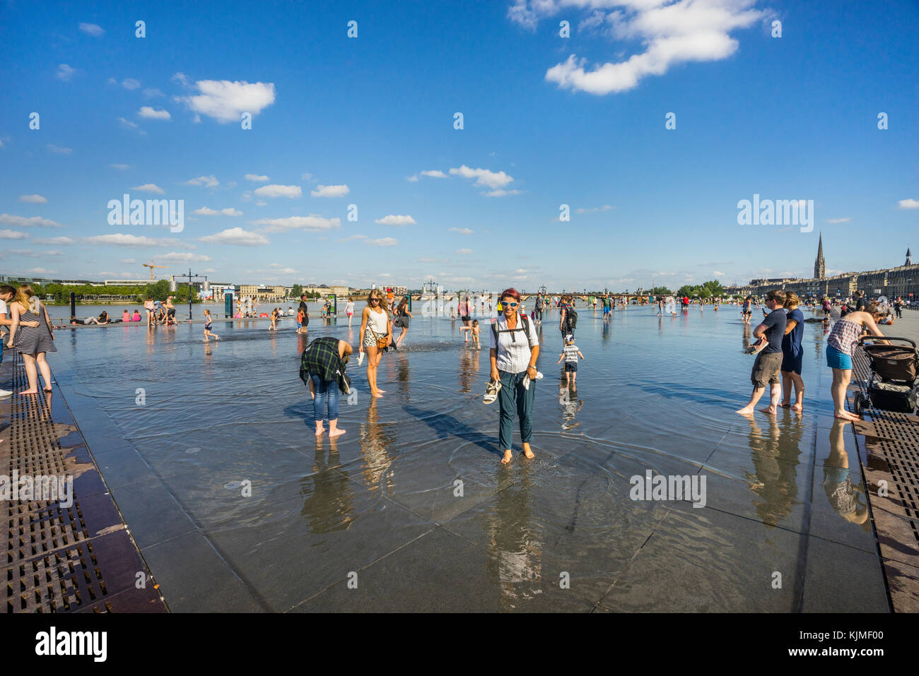
{"type": "Polygon", "coordinates": [[[0,8],[5,274],[621,290],[919,247],[914,2],[42,7],[0,8]],[[184,231],[110,225],[124,193],[184,231]],[[739,225],[754,194],[813,231],[739,225]]]}

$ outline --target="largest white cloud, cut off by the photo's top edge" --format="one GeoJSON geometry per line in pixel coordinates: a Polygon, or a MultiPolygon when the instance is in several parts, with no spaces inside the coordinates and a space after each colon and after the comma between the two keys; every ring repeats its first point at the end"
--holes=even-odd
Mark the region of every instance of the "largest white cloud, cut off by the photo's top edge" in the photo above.
{"type": "Polygon", "coordinates": [[[609,35],[618,42],[641,42],[644,51],[619,62],[590,67],[574,54],[546,71],[546,80],[563,89],[606,95],[629,91],[648,75],[663,75],[673,66],[687,62],[720,61],[737,51],[730,35],[737,28],[749,28],[766,17],[753,9],[755,0],[628,0],[600,2],[582,0],[516,0],[508,15],[518,23],[535,28],[541,17],[552,16],[562,6],[580,8],[622,6],[610,11],[603,21],[591,17],[584,26],[607,23],[609,35]]]}

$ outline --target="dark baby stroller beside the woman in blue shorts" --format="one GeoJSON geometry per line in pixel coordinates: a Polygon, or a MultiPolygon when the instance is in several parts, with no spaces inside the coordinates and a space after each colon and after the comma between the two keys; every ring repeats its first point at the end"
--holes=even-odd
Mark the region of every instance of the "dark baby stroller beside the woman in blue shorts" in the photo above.
{"type": "Polygon", "coordinates": [[[877,340],[866,336],[858,344],[868,355],[871,365],[871,377],[868,378],[868,394],[859,392],[856,395],[856,414],[870,407],[884,411],[912,413],[919,407],[919,351],[909,338],[891,338],[884,340],[891,344],[866,343],[877,340]],[[893,344],[893,341],[909,345],[893,344]]]}

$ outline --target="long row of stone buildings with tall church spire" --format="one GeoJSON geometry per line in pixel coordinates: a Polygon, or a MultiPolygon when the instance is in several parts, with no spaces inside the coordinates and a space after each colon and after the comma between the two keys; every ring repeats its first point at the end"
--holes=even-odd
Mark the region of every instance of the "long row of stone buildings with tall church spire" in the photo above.
{"type": "Polygon", "coordinates": [[[742,287],[725,288],[725,294],[762,297],[767,291],[780,288],[786,292],[794,291],[801,299],[816,301],[824,296],[847,299],[860,289],[869,298],[886,296],[892,300],[902,296],[904,300],[919,299],[919,265],[913,265],[909,249],[906,250],[906,263],[898,267],[865,272],[846,272],[829,277],[825,276],[825,272],[823,237],[821,237],[817,245],[817,259],[814,262],[812,279],[797,277],[751,279],[749,284],[742,287]]]}

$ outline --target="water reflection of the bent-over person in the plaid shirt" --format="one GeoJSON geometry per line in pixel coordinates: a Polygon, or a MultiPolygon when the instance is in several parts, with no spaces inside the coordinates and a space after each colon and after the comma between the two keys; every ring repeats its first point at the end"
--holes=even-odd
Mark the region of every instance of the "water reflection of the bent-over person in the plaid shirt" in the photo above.
{"type": "Polygon", "coordinates": [[[300,513],[308,518],[311,533],[346,530],[357,518],[351,480],[338,457],[338,440],[330,439],[329,459],[326,462],[323,438],[316,437],[312,474],[300,479],[301,495],[306,496],[300,513]]]}

